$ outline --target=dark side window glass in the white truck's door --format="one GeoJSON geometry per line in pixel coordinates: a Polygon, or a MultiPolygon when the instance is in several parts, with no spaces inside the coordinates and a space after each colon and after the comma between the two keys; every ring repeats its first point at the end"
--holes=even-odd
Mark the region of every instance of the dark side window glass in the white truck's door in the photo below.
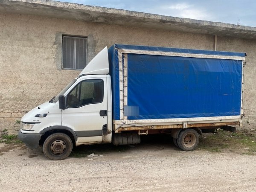
{"type": "Polygon", "coordinates": [[[81,81],[67,95],[67,108],[78,108],[103,101],[104,81],[92,79],[81,81]]]}

